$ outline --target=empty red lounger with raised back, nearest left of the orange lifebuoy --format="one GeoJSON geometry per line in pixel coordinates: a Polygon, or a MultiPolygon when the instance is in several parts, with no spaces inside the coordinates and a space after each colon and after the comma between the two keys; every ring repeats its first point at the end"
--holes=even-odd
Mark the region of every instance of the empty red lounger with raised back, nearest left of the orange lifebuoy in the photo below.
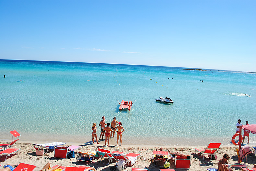
{"type": "Polygon", "coordinates": [[[212,160],[213,160],[213,155],[217,152],[219,149],[221,143],[209,143],[207,147],[204,148],[194,148],[195,153],[198,151],[200,155],[203,155],[203,160],[204,160],[204,155],[211,155],[212,160]]]}

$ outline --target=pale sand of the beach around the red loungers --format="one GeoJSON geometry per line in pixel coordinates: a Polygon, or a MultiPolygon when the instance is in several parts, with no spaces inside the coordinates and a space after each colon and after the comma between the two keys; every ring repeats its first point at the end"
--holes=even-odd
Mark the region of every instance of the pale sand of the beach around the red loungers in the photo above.
{"type": "MultiPolygon", "coordinates": [[[[1,144],[6,144],[8,142],[2,141],[1,144]]],[[[45,143],[45,142],[41,142],[45,143]]],[[[167,151],[169,149],[170,152],[176,153],[178,150],[180,150],[181,154],[184,155],[190,155],[191,156],[191,166],[190,169],[175,169],[174,162],[170,162],[170,165],[172,169],[175,170],[191,170],[191,171],[201,171],[201,170],[207,170],[208,168],[217,168],[218,167],[218,161],[223,157],[225,153],[230,155],[230,159],[228,160],[229,164],[238,164],[238,157],[236,154],[236,148],[235,146],[221,146],[220,149],[217,151],[217,159],[213,160],[213,163],[209,160],[203,160],[201,156],[199,156],[198,153],[195,154],[195,150],[193,147],[196,146],[156,146],[156,145],[122,145],[122,146],[104,146],[104,142],[100,141],[101,144],[79,144],[79,143],[67,143],[65,145],[81,145],[82,147],[79,148],[80,152],[89,152],[92,150],[96,150],[99,148],[109,149],[110,151],[122,151],[125,153],[136,153],[140,154],[141,156],[138,157],[138,161],[134,164],[132,167],[127,167],[126,170],[130,171],[131,168],[147,168],[150,171],[158,171],[160,168],[159,166],[154,166],[154,163],[152,163],[152,153],[154,150],[160,149],[160,147],[163,147],[164,151],[167,151]]],[[[207,144],[205,144],[206,146],[207,144]]],[[[198,146],[198,147],[205,147],[205,146],[198,146]]],[[[30,165],[37,166],[35,168],[35,171],[40,170],[47,162],[51,162],[51,166],[55,165],[61,165],[62,166],[72,166],[72,167],[78,167],[78,166],[94,166],[97,171],[100,170],[110,170],[111,167],[114,167],[116,162],[113,160],[113,162],[110,165],[105,165],[102,163],[99,163],[100,159],[94,159],[92,162],[78,162],[76,158],[72,159],[55,159],[53,158],[54,152],[49,152],[46,155],[43,156],[37,156],[36,150],[33,148],[33,143],[27,143],[18,141],[16,144],[12,146],[12,148],[20,148],[21,150],[18,152],[17,155],[11,155],[10,157],[7,157],[6,161],[4,161],[5,157],[0,157],[0,164],[6,165],[6,164],[19,164],[19,163],[26,163],[30,165]]],[[[76,150],[78,152],[78,150],[76,150]]],[[[254,152],[254,150],[253,150],[254,152]]],[[[76,155],[76,154],[75,154],[76,155]]],[[[253,167],[253,164],[255,164],[256,157],[250,156],[247,158],[246,165],[248,168],[253,167]]],[[[103,162],[107,162],[103,161],[103,162]]],[[[243,160],[242,164],[245,164],[245,159],[243,160]]],[[[2,168],[1,166],[0,168],[2,168]]],[[[236,170],[240,170],[238,167],[236,170]]],[[[234,169],[233,169],[234,170],[234,169]]]]}

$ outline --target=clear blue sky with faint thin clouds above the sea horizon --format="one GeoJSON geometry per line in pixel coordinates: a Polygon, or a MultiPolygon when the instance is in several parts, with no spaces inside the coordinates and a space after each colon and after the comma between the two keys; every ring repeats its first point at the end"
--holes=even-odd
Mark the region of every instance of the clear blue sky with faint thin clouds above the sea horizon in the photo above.
{"type": "Polygon", "coordinates": [[[256,72],[255,0],[0,0],[0,59],[256,72]]]}

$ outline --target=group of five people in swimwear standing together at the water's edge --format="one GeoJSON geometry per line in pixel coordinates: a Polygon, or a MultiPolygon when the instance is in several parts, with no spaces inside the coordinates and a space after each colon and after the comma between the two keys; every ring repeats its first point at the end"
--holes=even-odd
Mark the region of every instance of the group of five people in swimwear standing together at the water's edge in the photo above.
{"type": "MultiPolygon", "coordinates": [[[[102,116],[102,120],[99,123],[100,126],[100,136],[99,136],[99,140],[103,139],[104,134],[105,134],[105,145],[107,145],[107,141],[108,141],[108,145],[109,145],[109,139],[112,137],[113,134],[113,138],[115,136],[115,132],[116,136],[117,136],[117,140],[116,140],[116,145],[118,144],[119,138],[120,138],[120,145],[122,145],[122,132],[124,131],[123,127],[122,127],[122,123],[121,122],[117,122],[116,118],[113,118],[113,121],[110,123],[106,124],[105,121],[105,116],[102,116]],[[102,136],[102,137],[101,137],[102,136]]],[[[92,124],[92,143],[94,143],[94,137],[96,138],[96,142],[97,144],[99,144],[98,142],[98,136],[97,136],[97,127],[96,127],[96,123],[92,124]]]]}

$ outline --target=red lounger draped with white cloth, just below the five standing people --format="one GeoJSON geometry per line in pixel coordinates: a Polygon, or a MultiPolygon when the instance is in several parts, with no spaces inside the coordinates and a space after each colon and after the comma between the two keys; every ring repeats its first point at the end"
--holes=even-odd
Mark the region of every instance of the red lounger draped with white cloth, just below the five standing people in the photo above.
{"type": "Polygon", "coordinates": [[[124,169],[126,169],[127,166],[133,166],[134,163],[137,161],[137,158],[140,156],[140,154],[135,153],[128,153],[126,155],[118,154],[118,153],[112,153],[113,157],[116,159],[116,166],[118,165],[118,162],[120,160],[124,160],[124,169]]]}

